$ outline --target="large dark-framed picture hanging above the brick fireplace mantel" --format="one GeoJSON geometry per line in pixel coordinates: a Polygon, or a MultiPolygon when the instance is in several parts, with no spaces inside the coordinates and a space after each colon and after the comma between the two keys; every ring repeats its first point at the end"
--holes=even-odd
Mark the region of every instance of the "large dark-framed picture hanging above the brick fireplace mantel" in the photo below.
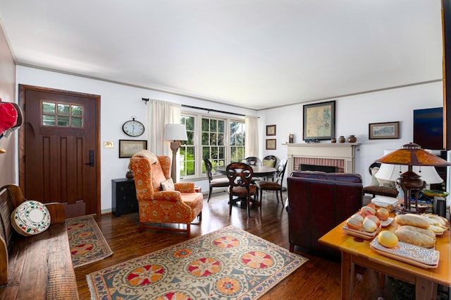
{"type": "Polygon", "coordinates": [[[304,105],[303,140],[335,138],[335,101],[304,105]]]}

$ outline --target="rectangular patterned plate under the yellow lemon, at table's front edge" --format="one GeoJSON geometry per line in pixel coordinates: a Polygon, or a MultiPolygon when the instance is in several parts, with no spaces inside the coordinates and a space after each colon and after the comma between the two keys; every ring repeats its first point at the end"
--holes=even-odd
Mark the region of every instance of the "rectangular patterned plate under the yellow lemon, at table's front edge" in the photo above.
{"type": "Polygon", "coordinates": [[[386,248],[379,243],[378,239],[373,239],[369,246],[383,256],[401,260],[404,263],[410,263],[421,268],[437,268],[440,258],[439,251],[407,244],[402,241],[398,241],[395,248],[386,248]]]}

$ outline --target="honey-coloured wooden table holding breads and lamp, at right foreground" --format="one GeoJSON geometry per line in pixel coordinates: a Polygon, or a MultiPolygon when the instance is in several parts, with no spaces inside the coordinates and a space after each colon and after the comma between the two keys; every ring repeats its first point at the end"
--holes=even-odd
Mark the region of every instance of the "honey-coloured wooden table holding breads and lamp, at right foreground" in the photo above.
{"type": "MultiPolygon", "coordinates": [[[[394,217],[394,215],[391,215],[394,217]]],[[[421,268],[400,260],[383,256],[370,248],[371,239],[364,240],[345,234],[342,227],[346,221],[333,228],[319,239],[321,244],[337,248],[342,253],[341,299],[352,299],[354,265],[362,265],[382,274],[415,284],[416,299],[436,299],[438,284],[451,287],[450,231],[437,236],[435,250],[440,251],[437,268],[421,268]]],[[[381,230],[395,232],[393,221],[381,230]]],[[[377,236],[375,237],[377,239],[377,236]]]]}

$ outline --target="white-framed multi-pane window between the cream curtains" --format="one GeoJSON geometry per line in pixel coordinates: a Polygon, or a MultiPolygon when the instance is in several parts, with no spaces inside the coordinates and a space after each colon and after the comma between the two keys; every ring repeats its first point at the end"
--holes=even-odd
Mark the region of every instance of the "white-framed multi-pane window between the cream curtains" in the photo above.
{"type": "Polygon", "coordinates": [[[245,158],[244,119],[182,112],[180,124],[185,124],[188,137],[180,147],[180,179],[204,177],[204,157],[213,167],[245,158]]]}

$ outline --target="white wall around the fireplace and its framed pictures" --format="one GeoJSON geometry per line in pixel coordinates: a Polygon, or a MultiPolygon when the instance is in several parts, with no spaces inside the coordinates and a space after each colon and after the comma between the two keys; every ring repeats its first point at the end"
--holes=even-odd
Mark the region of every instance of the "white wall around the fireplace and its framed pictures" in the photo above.
{"type": "MultiPolygon", "coordinates": [[[[351,134],[357,137],[357,143],[362,145],[356,153],[356,173],[362,175],[364,184],[370,184],[368,167],[374,160],[383,156],[383,150],[397,149],[413,141],[413,110],[443,107],[443,84],[428,83],[330,100],[336,100],[336,137],[347,138],[351,134]],[[390,121],[400,121],[399,139],[369,140],[369,123],[390,121]]],[[[302,114],[302,104],[259,111],[261,157],[276,155],[279,159],[286,158],[287,148],[281,144],[288,142],[290,132],[295,134],[295,143],[304,143],[302,114]],[[273,124],[276,124],[277,136],[266,136],[266,125],[273,124]],[[266,138],[277,138],[276,150],[266,150],[266,138]]]]}

